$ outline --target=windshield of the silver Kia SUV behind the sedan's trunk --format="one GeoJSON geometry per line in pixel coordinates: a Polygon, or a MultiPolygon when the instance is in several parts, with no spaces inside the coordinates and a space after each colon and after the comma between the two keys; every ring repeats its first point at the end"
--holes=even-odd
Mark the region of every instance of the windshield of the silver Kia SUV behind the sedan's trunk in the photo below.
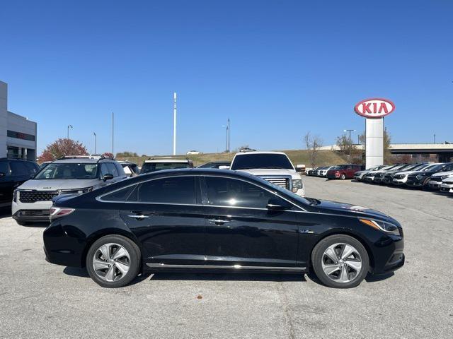
{"type": "Polygon", "coordinates": [[[36,174],[34,179],[96,179],[98,165],[84,162],[52,162],[36,174]]]}

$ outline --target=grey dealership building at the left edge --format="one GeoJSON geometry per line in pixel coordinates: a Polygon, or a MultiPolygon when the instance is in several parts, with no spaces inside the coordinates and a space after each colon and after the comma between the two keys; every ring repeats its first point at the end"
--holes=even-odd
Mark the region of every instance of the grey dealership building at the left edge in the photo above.
{"type": "Polygon", "coordinates": [[[8,85],[0,81],[0,157],[36,160],[36,123],[8,111],[8,85]]]}

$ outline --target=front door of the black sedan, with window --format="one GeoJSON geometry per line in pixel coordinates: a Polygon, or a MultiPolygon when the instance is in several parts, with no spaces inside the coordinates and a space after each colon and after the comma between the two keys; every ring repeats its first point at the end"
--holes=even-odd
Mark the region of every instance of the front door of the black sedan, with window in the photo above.
{"type": "Polygon", "coordinates": [[[207,265],[296,266],[297,220],[286,201],[237,179],[205,177],[202,188],[207,265]],[[289,209],[268,210],[270,199],[289,209]]]}

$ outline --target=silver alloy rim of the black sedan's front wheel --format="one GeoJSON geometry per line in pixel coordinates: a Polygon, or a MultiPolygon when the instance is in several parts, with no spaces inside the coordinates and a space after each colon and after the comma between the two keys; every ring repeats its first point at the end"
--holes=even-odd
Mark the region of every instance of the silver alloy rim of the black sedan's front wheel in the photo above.
{"type": "Polygon", "coordinates": [[[362,258],[350,244],[328,246],[322,256],[321,266],[327,277],[337,283],[349,283],[362,270],[362,258]]]}

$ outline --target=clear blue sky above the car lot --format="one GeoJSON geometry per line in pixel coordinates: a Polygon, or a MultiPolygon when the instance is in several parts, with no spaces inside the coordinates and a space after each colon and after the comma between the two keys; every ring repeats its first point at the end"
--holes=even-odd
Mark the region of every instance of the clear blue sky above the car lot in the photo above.
{"type": "MultiPolygon", "coordinates": [[[[365,129],[352,112],[387,97],[396,143],[453,141],[453,1],[3,1],[8,109],[98,152],[303,148],[365,129]]],[[[355,136],[357,138],[357,136],[355,136]]]]}

